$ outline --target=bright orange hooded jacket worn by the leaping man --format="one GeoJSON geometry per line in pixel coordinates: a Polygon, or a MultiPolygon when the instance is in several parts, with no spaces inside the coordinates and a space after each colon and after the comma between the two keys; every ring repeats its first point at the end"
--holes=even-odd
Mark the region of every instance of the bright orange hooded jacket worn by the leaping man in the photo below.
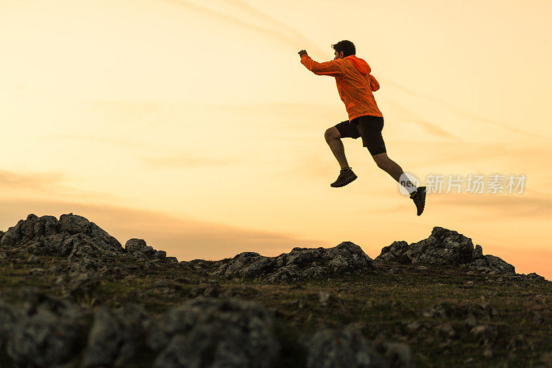
{"type": "Polygon", "coordinates": [[[380,84],[370,74],[371,68],[363,59],[351,55],[317,63],[308,55],[303,55],[301,63],[315,75],[335,77],[337,92],[345,104],[350,121],[364,115],[383,116],[372,93],[380,89],[380,84]]]}

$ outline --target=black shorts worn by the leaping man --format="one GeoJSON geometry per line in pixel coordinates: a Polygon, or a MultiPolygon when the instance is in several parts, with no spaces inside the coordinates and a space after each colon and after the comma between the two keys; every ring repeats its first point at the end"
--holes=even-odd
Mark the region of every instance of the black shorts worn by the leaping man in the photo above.
{"type": "Polygon", "coordinates": [[[345,120],[335,126],[342,138],[362,137],[362,146],[367,147],[371,155],[386,152],[382,129],[384,118],[381,116],[364,115],[355,117],[349,122],[345,120]]]}

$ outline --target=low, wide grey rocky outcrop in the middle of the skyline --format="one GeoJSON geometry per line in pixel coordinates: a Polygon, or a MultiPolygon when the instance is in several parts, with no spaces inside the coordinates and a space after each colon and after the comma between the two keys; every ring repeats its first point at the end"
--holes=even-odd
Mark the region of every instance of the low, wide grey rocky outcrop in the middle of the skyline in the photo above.
{"type": "Polygon", "coordinates": [[[215,272],[217,275],[266,282],[295,282],[328,275],[375,271],[374,261],[352,242],[342,242],[333,248],[297,247],[277,257],[244,252],[219,263],[219,269],[215,272]]]}

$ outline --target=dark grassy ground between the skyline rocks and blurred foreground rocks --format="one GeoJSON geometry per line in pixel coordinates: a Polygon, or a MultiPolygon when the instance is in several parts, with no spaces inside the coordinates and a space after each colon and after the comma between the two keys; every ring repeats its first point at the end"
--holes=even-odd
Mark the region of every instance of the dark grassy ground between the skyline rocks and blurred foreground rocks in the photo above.
{"type": "MultiPolygon", "coordinates": [[[[59,276],[66,259],[3,253],[0,298],[21,301],[21,290],[34,287],[66,296],[59,276]],[[58,280],[58,282],[56,282],[58,280]]],[[[294,344],[304,333],[324,327],[354,325],[369,340],[406,342],[417,366],[551,367],[552,283],[505,282],[500,275],[457,269],[387,264],[380,272],[295,284],[224,280],[212,273],[213,262],[192,267],[121,257],[114,272],[76,301],[97,307],[143,304],[159,314],[195,296],[237,296],[274,309],[279,333],[289,342],[288,366],[302,357],[294,344]],[[424,315],[444,302],[444,316],[424,315]],[[491,303],[485,304],[485,303],[491,303]],[[469,320],[472,311],[475,321],[469,320]],[[480,333],[472,330],[482,325],[480,333]]],[[[110,262],[110,263],[111,263],[110,262]]],[[[435,314],[435,313],[433,313],[435,314]]]]}

